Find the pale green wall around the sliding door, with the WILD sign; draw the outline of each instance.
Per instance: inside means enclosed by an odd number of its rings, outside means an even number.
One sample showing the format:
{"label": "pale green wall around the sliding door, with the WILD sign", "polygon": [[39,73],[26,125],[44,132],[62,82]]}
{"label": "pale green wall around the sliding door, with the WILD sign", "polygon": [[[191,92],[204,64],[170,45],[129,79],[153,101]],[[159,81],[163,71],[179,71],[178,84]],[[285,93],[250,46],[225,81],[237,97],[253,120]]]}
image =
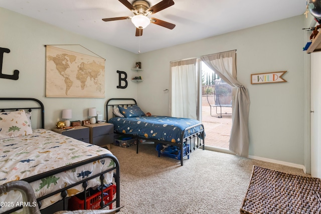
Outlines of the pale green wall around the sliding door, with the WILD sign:
{"label": "pale green wall around the sliding door, with the WILD sign", "polygon": [[[303,27],[300,15],[142,53],[145,81],[138,86],[138,102],[152,114],[168,115],[169,94],[163,90],[169,88],[170,61],[237,49],[237,78],[247,87],[251,101],[249,154],[307,165]],[[252,73],[283,70],[287,70],[287,82],[250,82]]]}

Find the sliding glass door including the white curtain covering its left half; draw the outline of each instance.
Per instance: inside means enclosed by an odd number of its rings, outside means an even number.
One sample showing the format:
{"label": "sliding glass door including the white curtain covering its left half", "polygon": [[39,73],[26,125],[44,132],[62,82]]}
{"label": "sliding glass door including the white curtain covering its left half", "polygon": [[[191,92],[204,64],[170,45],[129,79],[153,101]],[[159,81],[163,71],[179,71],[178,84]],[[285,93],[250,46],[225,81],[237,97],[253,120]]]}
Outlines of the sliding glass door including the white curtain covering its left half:
{"label": "sliding glass door including the white curtain covering its left half", "polygon": [[171,116],[203,122],[206,145],[229,148],[232,87],[200,58],[171,63]]}

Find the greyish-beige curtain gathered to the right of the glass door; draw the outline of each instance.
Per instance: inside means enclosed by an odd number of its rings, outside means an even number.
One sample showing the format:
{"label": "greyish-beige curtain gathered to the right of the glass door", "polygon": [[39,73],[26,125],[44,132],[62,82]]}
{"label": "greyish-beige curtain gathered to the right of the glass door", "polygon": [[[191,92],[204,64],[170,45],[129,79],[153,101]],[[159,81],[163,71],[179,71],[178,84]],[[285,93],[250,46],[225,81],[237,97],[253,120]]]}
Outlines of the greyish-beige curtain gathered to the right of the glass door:
{"label": "greyish-beige curtain gathered to the right of the glass door", "polygon": [[250,98],[247,89],[232,75],[236,73],[236,50],[201,56],[201,59],[224,81],[237,87],[229,149],[237,155],[248,157]]}

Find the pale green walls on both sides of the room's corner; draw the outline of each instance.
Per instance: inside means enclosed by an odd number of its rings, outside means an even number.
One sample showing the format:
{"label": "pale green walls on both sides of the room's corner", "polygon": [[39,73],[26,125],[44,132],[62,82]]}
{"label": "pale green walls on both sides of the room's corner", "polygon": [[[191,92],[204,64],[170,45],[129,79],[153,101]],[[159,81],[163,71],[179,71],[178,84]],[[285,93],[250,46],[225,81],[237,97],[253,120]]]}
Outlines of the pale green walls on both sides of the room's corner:
{"label": "pale green walls on both sides of the room's corner", "polygon": [[[5,53],[3,72],[20,70],[18,80],[0,78],[1,96],[35,97],[44,102],[45,127],[61,119],[61,109],[72,108],[72,119],[86,119],[87,109],[104,111],[111,97],[136,98],[142,110],[168,115],[170,61],[237,49],[238,80],[248,88],[252,156],[302,164],[309,171],[309,142],[306,128],[307,76],[302,51],[306,32],[304,16],[295,16],[223,35],[147,53],[126,50],[71,33],[36,19],[0,8],[0,47]],[[45,97],[45,44],[81,44],[106,59],[105,98]],[[131,71],[141,61],[143,82],[130,81]],[[128,87],[118,89],[116,70],[126,71]],[[252,73],[287,70],[285,83],[250,84]]]}

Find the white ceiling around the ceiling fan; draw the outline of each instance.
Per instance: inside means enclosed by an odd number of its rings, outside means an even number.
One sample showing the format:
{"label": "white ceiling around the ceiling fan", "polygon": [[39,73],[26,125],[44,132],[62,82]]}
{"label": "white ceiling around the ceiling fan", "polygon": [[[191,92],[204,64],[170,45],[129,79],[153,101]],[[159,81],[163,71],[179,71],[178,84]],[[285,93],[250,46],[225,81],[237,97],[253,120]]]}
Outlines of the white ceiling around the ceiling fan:
{"label": "white ceiling around the ceiling fan", "polygon": [[[128,0],[130,3],[133,0]],[[147,0],[150,6],[161,0]],[[174,0],[148,17],[176,24],[149,24],[135,36],[132,16],[118,0],[0,0],[0,6],[131,52],[147,52],[303,14],[306,0]],[[10,21],[8,21],[10,24]],[[255,35],[253,35],[255,36]]]}

